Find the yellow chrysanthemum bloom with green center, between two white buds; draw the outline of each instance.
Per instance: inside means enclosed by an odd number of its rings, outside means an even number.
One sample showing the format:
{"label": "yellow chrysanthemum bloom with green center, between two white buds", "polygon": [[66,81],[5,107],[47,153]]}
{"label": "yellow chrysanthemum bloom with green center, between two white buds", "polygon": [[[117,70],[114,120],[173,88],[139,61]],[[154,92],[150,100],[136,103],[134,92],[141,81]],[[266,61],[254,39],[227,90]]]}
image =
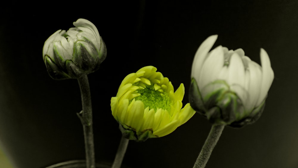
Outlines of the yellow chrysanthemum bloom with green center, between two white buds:
{"label": "yellow chrysanthemum bloom with green center, between two white buds", "polygon": [[112,115],[127,139],[165,136],[195,114],[189,103],[182,108],[184,85],[174,92],[169,79],[156,70],[146,66],[127,75],[111,98]]}

